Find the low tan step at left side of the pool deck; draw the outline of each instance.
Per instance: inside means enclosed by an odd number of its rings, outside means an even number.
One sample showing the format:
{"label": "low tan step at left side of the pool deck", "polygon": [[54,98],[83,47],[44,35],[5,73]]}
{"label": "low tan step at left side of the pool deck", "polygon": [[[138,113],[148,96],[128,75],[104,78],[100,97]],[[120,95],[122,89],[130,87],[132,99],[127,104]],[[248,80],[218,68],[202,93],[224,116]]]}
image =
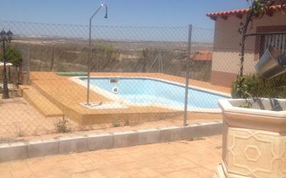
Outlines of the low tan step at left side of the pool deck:
{"label": "low tan step at left side of the pool deck", "polygon": [[19,95],[25,98],[28,103],[46,118],[64,116],[62,110],[51,103],[50,100],[40,94],[40,92],[31,85],[19,86]]}

